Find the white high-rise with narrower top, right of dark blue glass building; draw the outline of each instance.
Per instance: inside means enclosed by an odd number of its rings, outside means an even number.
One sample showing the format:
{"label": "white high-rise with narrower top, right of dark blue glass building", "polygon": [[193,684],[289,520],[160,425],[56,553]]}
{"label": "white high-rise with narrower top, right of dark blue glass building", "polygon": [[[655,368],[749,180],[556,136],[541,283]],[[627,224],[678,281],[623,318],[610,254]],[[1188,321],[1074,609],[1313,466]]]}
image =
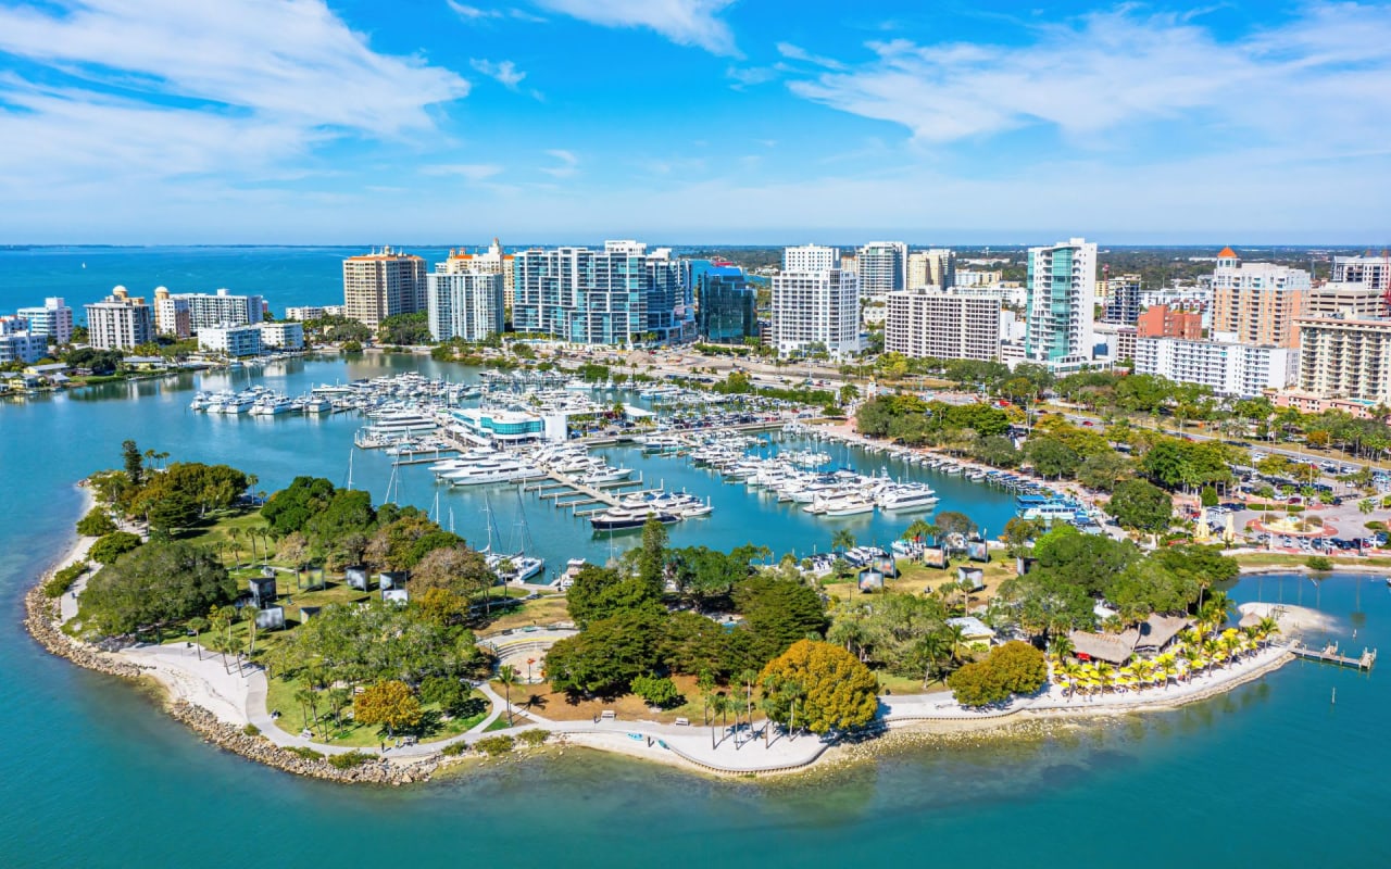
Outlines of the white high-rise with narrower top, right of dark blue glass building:
{"label": "white high-rise with narrower top, right of dark blue glass building", "polygon": [[779,353],[860,350],[860,282],[832,247],[787,247],[772,282],[771,343]]}

